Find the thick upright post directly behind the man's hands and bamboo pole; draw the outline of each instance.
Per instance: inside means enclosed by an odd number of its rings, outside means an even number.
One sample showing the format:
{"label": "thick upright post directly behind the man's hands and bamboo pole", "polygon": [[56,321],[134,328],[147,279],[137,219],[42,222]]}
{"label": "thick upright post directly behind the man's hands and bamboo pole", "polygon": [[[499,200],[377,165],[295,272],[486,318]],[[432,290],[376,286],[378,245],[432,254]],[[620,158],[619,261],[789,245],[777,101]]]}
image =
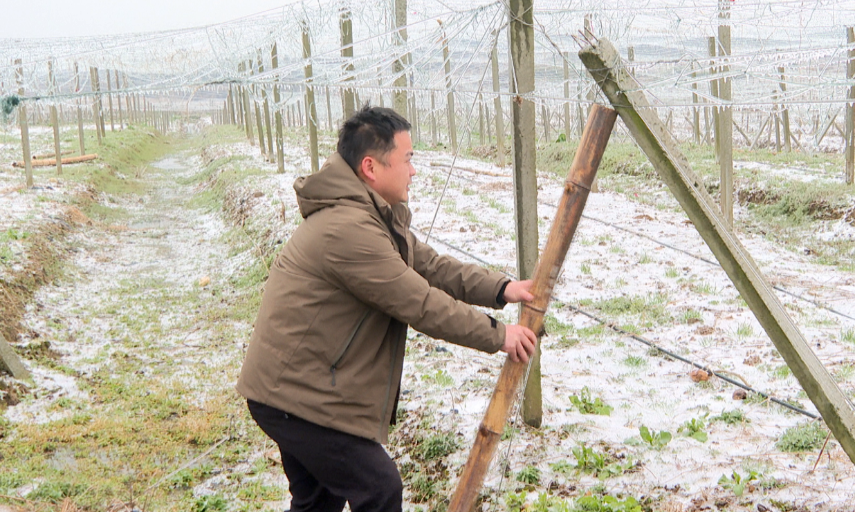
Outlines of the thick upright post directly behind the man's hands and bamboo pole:
{"label": "thick upright post directly behind the man's hands and bamboo pole", "polygon": [[[537,136],[534,132],[534,102],[526,99],[534,91],[534,0],[510,0],[510,102],[513,119],[514,207],[516,212],[516,268],[520,279],[534,275],[538,256],[537,228]],[[540,332],[540,329],[534,331]],[[540,348],[528,365],[522,421],[540,427],[543,407],[540,396]]]}

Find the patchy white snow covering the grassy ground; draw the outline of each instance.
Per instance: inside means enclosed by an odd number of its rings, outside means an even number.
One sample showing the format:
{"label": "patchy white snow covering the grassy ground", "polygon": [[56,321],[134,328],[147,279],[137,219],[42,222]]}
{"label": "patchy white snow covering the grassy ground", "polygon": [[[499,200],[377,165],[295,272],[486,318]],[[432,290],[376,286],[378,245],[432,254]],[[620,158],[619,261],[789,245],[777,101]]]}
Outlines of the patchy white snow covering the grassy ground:
{"label": "patchy white snow covering the grassy ground", "polygon": [[[6,150],[4,146],[4,157]],[[286,239],[298,222],[291,185],[308,167],[304,149],[288,148],[285,174],[277,174],[275,166],[262,161],[257,148],[246,143],[219,145],[209,148],[209,153],[244,155],[248,159],[244,165],[265,170],[232,193],[235,198],[253,198],[246,210],[247,222],[266,226],[271,231],[268,241]],[[516,249],[510,170],[457,159],[458,168],[452,172],[433,223],[450,163],[449,154],[417,152],[418,174],[410,193],[414,230],[422,240],[429,231],[429,242],[439,252],[513,273]],[[242,344],[233,340],[248,340],[251,326],[235,323],[227,326],[229,335],[218,334],[205,323],[203,313],[218,300],[227,299],[215,296],[228,294],[227,287],[216,284],[237,275],[255,255],[251,251],[230,254],[222,237],[230,229],[228,221],[217,212],[189,207],[186,200],[198,189],[174,184],[186,183],[202,166],[200,159],[187,154],[162,160],[150,170],[150,179],[157,183],[150,195],[139,201],[121,200],[121,207],[133,218],[127,226],[74,230],[70,237],[77,250],[67,276],[39,291],[25,319],[32,333],[50,338],[51,347],[62,353],[62,364],[82,376],[89,375],[103,364],[104,354],[131,352],[129,344],[141,343],[143,348],[133,350],[142,363],[141,375],[178,381],[200,393],[199,404],[206,387],[233,385],[233,369],[243,353]],[[62,179],[50,181],[45,172],[40,176],[38,186],[43,189],[3,192],[21,183],[21,174],[0,167],[4,212],[0,231],[21,223],[38,224],[56,215],[63,198],[78,190]],[[562,182],[558,177],[539,176],[541,247]],[[745,215],[737,211],[737,226]],[[855,466],[839,445],[829,443],[818,463],[816,452],[792,454],[775,447],[781,434],[805,422],[806,416],[776,404],[734,400],[735,387],[715,378],[695,383],[688,375],[689,365],[662,357],[628,336],[598,330],[598,323],[570,309],[569,305],[578,306],[608,322],[632,325],[640,335],[671,352],[734,375],[775,398],[797,401],[816,413],[798,382],[780,369],[784,364],[780,355],[728,277],[710,263],[715,258],[686,216],[675,208],[675,201],[663,198],[662,204],[651,206],[605,190],[589,197],[585,216],[557,282],[557,301],[549,311],[557,327],[542,342],[544,428],[540,432],[520,429],[503,441],[498,458],[506,459],[515,473],[534,464],[546,474],[549,463],[574,460],[572,449],[580,443],[607,446],[642,463],[640,471],[605,480],[609,492],[636,497],[666,493],[673,510],[701,507],[716,497],[733,497],[733,492],[717,485],[719,478],[733,471],[746,475],[749,470],[782,484],[746,495],[757,503],[769,506],[767,498],[774,498],[810,510],[855,509]],[[843,233],[847,228],[839,230]],[[805,254],[776,247],[757,236],[739,231],[738,236],[769,282],[855,317],[852,273],[815,265]],[[199,280],[206,276],[212,285],[202,287]],[[853,396],[855,347],[841,338],[847,329],[855,329],[855,322],[791,294],[779,292],[779,297],[840,387]],[[616,298],[646,300],[648,305],[645,311],[617,317],[594,307]],[[158,318],[161,324],[143,329],[143,340],[128,340],[133,329],[127,322],[138,300],[141,307],[152,310],[149,318]],[[516,308],[506,309],[499,317],[513,322]],[[69,336],[73,332],[78,334]],[[32,334],[18,341],[26,343],[29,336]],[[206,350],[201,354],[198,348],[203,344]],[[412,414],[432,415],[437,428],[461,433],[463,445],[468,447],[504,358],[412,332],[409,354],[401,406]],[[181,363],[178,372],[175,362]],[[28,365],[35,374],[38,399],[10,408],[5,413],[10,421],[50,421],[60,414],[50,408],[53,400],[62,396],[86,399],[74,378]],[[451,376],[451,385],[432,378],[440,370]],[[212,371],[221,371],[223,377],[215,384],[200,381]],[[575,410],[569,398],[580,395],[583,388],[613,407],[610,416],[582,415]],[[713,416],[732,410],[740,410],[746,421],[733,425],[711,422]],[[678,435],[677,429],[685,422],[702,418],[706,418],[709,433],[706,443]],[[512,421],[520,425],[519,418]],[[659,450],[645,448],[637,442],[640,426],[668,430],[674,439]],[[406,457],[397,447],[390,450]],[[458,451],[451,463],[462,465],[466,452]],[[815,463],[816,471],[812,470]],[[492,466],[487,486],[506,492],[510,482],[501,478],[498,463],[494,461]],[[598,480],[582,475],[559,483],[565,488],[589,487]],[[753,509],[752,503],[741,509],[739,503],[731,506],[734,510]],[[408,509],[413,508],[408,504]]]}

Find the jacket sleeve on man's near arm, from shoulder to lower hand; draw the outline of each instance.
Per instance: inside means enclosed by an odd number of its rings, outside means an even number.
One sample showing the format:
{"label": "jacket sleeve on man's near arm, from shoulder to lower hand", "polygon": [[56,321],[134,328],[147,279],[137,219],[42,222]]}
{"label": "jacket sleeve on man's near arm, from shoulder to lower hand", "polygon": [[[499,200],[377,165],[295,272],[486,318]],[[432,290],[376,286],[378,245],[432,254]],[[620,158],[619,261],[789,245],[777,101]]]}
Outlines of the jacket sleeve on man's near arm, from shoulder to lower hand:
{"label": "jacket sleeve on man's near arm, from shoulder to lower hand", "polygon": [[504,343],[503,323],[433,288],[406,265],[380,225],[370,221],[332,225],[324,249],[329,282],[365,304],[457,345],[497,352]]}

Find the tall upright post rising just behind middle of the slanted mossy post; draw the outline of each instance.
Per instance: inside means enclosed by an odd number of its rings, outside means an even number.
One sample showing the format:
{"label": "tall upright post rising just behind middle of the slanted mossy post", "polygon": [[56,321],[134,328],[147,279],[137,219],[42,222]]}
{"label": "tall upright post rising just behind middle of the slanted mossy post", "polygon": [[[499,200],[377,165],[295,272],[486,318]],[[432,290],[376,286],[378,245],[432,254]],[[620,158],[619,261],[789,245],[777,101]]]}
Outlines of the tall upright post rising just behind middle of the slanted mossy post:
{"label": "tall upright post rising just behind middle of the slanted mossy post", "polygon": [[718,165],[721,171],[721,186],[719,189],[719,203],[722,213],[728,224],[734,225],[734,108],[730,106],[731,84],[728,77],[730,65],[730,0],[719,0],[718,2],[718,56],[722,57],[722,78],[719,79],[719,95],[722,98],[722,109],[718,117],[718,134],[722,137],[718,144]]}

